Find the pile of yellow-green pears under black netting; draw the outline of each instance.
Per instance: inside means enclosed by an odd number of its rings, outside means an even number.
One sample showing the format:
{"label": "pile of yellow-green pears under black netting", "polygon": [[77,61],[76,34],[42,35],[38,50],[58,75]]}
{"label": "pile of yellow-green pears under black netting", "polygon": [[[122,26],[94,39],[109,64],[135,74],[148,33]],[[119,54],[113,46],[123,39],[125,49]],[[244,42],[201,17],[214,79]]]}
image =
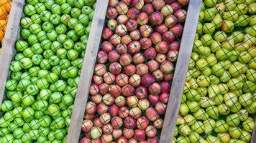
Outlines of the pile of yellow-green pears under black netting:
{"label": "pile of yellow-green pears under black netting", "polygon": [[204,0],[174,142],[250,142],[256,114],[256,3]]}

